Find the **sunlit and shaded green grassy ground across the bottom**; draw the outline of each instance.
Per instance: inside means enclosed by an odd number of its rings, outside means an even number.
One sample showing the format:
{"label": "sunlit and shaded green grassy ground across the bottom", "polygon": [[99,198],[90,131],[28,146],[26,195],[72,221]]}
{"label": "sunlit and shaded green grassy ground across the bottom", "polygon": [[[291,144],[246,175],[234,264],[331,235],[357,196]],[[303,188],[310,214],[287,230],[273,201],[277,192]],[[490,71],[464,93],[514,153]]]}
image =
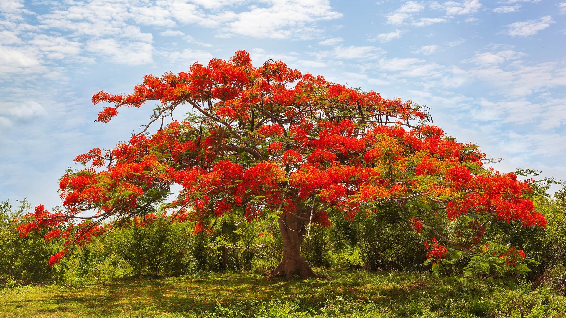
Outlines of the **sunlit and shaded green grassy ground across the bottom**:
{"label": "sunlit and shaded green grassy ground across the bottom", "polygon": [[327,271],[332,278],[267,280],[202,273],[80,287],[0,290],[0,317],[566,317],[566,297],[411,272]]}

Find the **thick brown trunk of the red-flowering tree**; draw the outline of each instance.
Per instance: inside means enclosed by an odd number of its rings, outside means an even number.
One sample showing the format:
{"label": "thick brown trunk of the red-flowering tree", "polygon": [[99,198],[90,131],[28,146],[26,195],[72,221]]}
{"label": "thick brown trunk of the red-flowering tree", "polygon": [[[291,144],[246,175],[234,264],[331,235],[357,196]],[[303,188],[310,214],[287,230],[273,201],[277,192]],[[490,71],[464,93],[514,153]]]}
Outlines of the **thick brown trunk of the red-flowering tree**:
{"label": "thick brown trunk of the red-flowering tree", "polygon": [[[297,207],[297,215],[302,210]],[[300,214],[299,214],[300,213]],[[310,211],[308,211],[310,215]],[[281,276],[290,278],[297,275],[301,277],[322,277],[312,271],[301,256],[301,243],[305,238],[308,221],[300,220],[290,214],[283,214],[279,220],[279,229],[283,238],[283,259],[275,269],[269,272],[268,277]]]}

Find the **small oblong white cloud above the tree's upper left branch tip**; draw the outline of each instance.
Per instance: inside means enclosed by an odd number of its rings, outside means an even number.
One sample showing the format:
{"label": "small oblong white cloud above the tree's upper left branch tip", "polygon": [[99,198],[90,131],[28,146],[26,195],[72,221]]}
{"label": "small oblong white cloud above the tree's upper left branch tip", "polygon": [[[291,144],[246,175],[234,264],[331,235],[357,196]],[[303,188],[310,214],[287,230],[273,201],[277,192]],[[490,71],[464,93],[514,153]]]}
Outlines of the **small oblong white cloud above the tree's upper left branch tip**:
{"label": "small oblong white cloud above the tree's upper left branch tip", "polygon": [[85,44],[85,50],[123,65],[143,65],[153,62],[153,46],[144,42],[121,44],[113,38],[91,40]]}

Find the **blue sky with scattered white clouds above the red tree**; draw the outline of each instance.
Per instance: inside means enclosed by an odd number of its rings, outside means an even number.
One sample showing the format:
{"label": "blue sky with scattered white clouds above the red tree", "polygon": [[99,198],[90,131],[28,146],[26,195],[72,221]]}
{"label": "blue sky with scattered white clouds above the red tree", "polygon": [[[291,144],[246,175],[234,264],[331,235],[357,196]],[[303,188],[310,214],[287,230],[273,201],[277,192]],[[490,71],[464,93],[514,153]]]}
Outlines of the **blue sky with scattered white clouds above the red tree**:
{"label": "blue sky with scattered white clouds above the red tree", "polygon": [[2,0],[0,200],[55,207],[76,155],[151,113],[94,122],[93,93],[241,49],[427,105],[449,135],[503,158],[496,169],[566,179],[566,2]]}

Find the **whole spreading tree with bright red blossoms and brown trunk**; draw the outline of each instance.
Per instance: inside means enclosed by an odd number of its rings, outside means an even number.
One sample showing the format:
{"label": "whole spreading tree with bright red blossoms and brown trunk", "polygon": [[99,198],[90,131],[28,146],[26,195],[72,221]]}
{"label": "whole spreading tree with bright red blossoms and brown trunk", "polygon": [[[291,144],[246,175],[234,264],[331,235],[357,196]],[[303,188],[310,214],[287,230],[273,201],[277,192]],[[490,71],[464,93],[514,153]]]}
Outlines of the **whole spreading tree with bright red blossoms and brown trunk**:
{"label": "whole spreading tree with bright red blossoms and brown trunk", "polygon": [[[61,178],[65,209],[36,208],[20,227],[24,234],[58,225],[47,237],[88,242],[101,222],[120,226],[144,216],[180,184],[168,204],[174,220],[193,221],[201,231],[207,220],[225,214],[249,221],[276,215],[284,250],[271,276],[308,277],[317,275],[301,257],[301,242],[311,225],[331,225],[331,210],[353,218],[394,205],[415,231],[430,234],[425,245],[435,261],[446,246],[478,250],[494,222],[545,225],[526,197],[528,182],[484,169],[484,154],[475,145],[457,143],[426,124],[426,108],[302,74],[282,62],[254,67],[245,51],[230,61],[195,63],[187,72],[147,75],[133,93],[102,91],[92,101],[113,104],[98,115],[102,123],[124,106],[158,104],[145,129],[127,143],[78,156],[76,162],[91,166]],[[187,111],[184,121],[173,120]],[[145,134],[152,123],[160,126]],[[87,210],[95,215],[80,217]],[[72,218],[85,221],[74,226]],[[435,218],[453,222],[462,234],[444,237]]]}

